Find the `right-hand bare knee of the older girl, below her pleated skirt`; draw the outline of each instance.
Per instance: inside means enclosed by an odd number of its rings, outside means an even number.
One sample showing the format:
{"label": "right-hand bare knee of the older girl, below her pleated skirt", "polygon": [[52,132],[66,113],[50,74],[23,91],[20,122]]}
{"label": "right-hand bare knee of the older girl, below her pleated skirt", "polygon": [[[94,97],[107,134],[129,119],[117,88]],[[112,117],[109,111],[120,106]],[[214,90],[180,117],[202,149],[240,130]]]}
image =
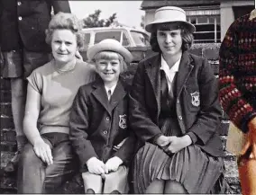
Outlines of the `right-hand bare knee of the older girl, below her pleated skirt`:
{"label": "right-hand bare knee of the older girl, below her pleated skirt", "polygon": [[167,181],[164,186],[165,194],[187,194],[186,189],[180,182]]}

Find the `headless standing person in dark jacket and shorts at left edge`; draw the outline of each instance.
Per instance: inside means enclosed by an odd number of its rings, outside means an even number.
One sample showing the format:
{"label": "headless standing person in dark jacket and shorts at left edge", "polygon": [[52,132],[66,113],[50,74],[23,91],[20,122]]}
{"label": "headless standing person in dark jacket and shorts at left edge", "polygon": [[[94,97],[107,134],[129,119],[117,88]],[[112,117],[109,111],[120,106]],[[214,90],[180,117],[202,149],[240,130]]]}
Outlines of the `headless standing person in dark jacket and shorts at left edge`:
{"label": "headless standing person in dark jacket and shorts at left edge", "polygon": [[2,75],[11,80],[12,111],[16,132],[17,152],[5,166],[14,172],[23,146],[26,101],[25,78],[32,71],[50,61],[50,47],[45,42],[45,30],[54,13],[70,13],[69,1],[0,0],[0,46],[4,55]]}

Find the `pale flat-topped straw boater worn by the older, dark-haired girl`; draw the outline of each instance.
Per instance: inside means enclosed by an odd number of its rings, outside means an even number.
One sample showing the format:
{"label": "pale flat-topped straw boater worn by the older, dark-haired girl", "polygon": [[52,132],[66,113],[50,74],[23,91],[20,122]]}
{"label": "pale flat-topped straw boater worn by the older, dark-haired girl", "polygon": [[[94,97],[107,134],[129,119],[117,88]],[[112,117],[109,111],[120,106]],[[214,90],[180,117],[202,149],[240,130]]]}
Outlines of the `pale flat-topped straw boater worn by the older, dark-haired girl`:
{"label": "pale flat-topped straw boater worn by the older, dark-haired girl", "polygon": [[154,21],[146,25],[145,29],[146,31],[153,32],[155,31],[155,24],[164,22],[181,22],[191,33],[196,31],[196,27],[192,23],[187,22],[185,11],[175,6],[165,6],[157,9],[155,12]]}

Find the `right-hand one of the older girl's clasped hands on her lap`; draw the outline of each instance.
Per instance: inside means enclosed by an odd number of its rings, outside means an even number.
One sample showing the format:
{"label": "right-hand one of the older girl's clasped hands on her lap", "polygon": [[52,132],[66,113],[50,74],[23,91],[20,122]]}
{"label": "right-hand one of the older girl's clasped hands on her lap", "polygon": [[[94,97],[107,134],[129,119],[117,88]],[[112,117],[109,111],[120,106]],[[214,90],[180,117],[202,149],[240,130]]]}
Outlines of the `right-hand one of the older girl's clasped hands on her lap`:
{"label": "right-hand one of the older girl's clasped hands on her lap", "polygon": [[191,144],[192,144],[192,140],[187,135],[183,137],[171,136],[169,137],[169,146],[164,147],[164,150],[167,153],[177,153],[179,150]]}

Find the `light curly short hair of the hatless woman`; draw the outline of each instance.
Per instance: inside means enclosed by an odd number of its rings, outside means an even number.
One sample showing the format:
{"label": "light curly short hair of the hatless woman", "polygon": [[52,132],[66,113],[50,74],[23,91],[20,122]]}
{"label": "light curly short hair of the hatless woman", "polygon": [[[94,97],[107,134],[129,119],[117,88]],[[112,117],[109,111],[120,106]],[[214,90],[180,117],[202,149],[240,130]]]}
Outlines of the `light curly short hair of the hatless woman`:
{"label": "light curly short hair of the hatless woman", "polygon": [[78,21],[76,15],[72,13],[57,13],[50,20],[48,29],[45,31],[45,41],[50,44],[52,34],[55,30],[70,30],[77,36],[78,48],[83,48],[84,35],[82,33],[82,24]]}

